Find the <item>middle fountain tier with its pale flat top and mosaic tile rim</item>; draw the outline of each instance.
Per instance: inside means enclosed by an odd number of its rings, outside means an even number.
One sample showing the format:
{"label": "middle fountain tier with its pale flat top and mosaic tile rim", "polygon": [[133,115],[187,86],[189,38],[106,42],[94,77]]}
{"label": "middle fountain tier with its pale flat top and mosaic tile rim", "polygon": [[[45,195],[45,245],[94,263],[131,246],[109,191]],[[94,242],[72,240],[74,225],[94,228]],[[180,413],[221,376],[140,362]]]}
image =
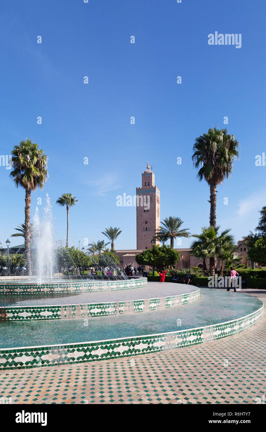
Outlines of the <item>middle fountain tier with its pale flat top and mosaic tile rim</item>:
{"label": "middle fountain tier with its pale flat top and mosaic tile rim", "polygon": [[199,299],[200,290],[176,283],[150,283],[139,289],[72,295],[2,296],[0,321],[63,320],[134,314],[182,306]]}

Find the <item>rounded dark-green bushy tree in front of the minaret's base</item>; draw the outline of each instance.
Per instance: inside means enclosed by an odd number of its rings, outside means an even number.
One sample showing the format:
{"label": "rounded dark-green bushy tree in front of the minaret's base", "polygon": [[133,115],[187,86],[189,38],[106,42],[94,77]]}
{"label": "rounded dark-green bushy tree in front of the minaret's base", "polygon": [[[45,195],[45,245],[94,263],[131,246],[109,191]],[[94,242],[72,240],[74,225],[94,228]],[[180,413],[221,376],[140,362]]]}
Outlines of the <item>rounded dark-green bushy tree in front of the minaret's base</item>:
{"label": "rounded dark-green bushy tree in front of the minaret's base", "polygon": [[135,259],[138,264],[149,265],[161,273],[180,261],[180,253],[172,249],[171,246],[155,245],[152,249],[145,249],[141,254],[136,254]]}

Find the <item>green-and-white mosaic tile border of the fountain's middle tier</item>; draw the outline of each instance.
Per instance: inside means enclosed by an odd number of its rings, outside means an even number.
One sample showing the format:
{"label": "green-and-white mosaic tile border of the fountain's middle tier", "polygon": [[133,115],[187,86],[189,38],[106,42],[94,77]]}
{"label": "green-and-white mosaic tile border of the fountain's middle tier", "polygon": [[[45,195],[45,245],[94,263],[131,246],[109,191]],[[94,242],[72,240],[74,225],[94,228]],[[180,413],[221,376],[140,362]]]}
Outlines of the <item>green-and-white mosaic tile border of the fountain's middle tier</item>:
{"label": "green-and-white mosaic tile border of the fountain's middle tier", "polygon": [[[185,296],[185,301],[183,300]],[[198,300],[200,289],[187,294],[157,299],[127,300],[123,302],[84,303],[76,305],[10,306],[0,308],[1,321],[35,321],[102,317],[133,314],[172,308]]]}

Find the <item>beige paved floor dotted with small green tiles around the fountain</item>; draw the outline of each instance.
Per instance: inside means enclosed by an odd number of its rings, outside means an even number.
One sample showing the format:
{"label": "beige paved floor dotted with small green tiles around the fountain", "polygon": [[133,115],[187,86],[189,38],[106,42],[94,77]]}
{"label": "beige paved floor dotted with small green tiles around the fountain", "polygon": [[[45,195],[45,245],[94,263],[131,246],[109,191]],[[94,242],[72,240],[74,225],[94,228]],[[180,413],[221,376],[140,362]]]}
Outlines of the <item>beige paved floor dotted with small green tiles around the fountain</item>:
{"label": "beige paved floor dotted with small green tiles around the fountain", "polygon": [[[245,293],[266,301],[266,291]],[[258,403],[265,394],[265,316],[241,334],[203,345],[0,372],[0,397],[12,397],[12,403],[248,404]]]}

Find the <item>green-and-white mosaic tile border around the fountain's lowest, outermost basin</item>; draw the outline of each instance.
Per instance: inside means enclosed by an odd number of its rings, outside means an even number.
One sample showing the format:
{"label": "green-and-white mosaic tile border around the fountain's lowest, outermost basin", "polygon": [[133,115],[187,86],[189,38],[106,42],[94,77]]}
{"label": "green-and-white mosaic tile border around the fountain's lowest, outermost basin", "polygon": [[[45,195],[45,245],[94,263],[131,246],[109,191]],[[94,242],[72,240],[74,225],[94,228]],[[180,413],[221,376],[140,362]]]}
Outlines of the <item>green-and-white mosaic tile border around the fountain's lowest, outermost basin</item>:
{"label": "green-and-white mosaic tile border around the fountain's lowest, outermost basin", "polygon": [[[261,302],[262,303],[262,302]],[[0,350],[0,370],[93,362],[156,353],[228,337],[256,324],[262,306],[244,317],[221,324],[117,340]]]}

